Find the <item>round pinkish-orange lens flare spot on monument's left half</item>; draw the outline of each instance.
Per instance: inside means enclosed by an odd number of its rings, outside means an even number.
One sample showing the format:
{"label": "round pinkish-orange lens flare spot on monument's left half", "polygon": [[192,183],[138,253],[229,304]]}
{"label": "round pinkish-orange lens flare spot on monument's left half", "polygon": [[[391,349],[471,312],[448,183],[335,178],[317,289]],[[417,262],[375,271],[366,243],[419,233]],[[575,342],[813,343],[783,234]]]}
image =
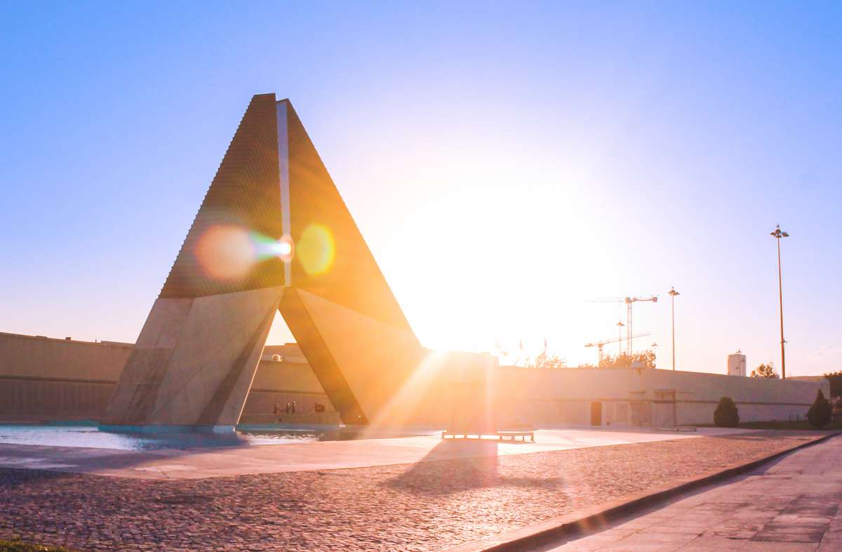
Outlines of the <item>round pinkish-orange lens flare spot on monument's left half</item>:
{"label": "round pinkish-orange lens flare spot on monument's left half", "polygon": [[211,226],[199,238],[195,249],[202,271],[217,280],[234,280],[248,274],[257,252],[245,229]]}

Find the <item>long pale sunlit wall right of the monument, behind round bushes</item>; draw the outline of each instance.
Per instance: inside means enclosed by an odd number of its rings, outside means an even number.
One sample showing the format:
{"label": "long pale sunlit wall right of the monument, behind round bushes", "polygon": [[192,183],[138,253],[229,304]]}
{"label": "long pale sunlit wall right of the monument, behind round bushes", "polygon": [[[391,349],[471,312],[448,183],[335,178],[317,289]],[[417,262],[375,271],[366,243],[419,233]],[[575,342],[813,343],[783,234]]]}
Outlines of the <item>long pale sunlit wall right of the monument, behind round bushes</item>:
{"label": "long pale sunlit wall right of the monument, behind round bushes", "polygon": [[737,403],[741,421],[803,418],[818,389],[829,397],[825,379],[781,381],[658,369],[501,367],[495,379],[494,404],[502,423],[541,427],[588,426],[592,408],[600,408],[603,426],[653,426],[658,391],[674,392],[679,425],[711,424],[723,396]]}

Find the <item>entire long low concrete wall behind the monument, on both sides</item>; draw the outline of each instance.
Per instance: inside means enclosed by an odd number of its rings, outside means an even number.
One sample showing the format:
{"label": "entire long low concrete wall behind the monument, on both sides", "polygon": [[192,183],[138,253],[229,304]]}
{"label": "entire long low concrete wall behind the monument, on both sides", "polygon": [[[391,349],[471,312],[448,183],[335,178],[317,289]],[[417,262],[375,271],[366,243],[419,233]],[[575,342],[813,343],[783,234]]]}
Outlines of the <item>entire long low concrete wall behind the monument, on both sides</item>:
{"label": "entire long low concrete wall behind the monument, on both sides", "polygon": [[[0,333],[0,421],[98,421],[133,346]],[[466,356],[460,362],[460,356]],[[723,396],[742,421],[803,418],[824,378],[744,378],[652,368],[498,367],[493,357],[447,353],[429,378],[400,400],[422,405],[410,425],[461,419],[486,426],[710,424]],[[462,366],[459,368],[459,366]],[[484,366],[484,367],[478,367]],[[296,413],[286,412],[295,403]],[[323,411],[319,411],[322,410]],[[266,346],[241,424],[335,424],[338,413],[296,344]]]}

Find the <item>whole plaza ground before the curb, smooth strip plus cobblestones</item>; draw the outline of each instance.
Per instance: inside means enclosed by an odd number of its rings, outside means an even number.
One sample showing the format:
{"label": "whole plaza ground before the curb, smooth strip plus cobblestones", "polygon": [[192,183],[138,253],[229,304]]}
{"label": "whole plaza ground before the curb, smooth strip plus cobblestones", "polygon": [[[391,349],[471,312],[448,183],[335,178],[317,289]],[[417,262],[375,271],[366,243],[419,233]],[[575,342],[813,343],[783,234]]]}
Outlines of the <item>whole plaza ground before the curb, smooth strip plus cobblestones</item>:
{"label": "whole plaza ground before the curb, smooth strip plus cobblestones", "polygon": [[[541,431],[534,446],[437,437],[144,453],[3,445],[18,468],[110,476],[0,468],[0,539],[92,551],[441,550],[811,437],[569,430]],[[137,476],[139,467],[152,475]]]}

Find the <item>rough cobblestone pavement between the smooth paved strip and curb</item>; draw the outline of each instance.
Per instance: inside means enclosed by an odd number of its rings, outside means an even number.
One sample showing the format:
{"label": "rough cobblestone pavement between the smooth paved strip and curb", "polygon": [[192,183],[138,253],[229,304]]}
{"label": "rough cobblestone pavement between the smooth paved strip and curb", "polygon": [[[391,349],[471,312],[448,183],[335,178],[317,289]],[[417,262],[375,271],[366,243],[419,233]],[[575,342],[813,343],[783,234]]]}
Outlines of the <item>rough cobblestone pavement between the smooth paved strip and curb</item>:
{"label": "rough cobblestone pavement between the smooth paved strip and curb", "polygon": [[805,437],[752,432],[204,480],[0,469],[0,539],[91,551],[437,550],[747,462]]}

